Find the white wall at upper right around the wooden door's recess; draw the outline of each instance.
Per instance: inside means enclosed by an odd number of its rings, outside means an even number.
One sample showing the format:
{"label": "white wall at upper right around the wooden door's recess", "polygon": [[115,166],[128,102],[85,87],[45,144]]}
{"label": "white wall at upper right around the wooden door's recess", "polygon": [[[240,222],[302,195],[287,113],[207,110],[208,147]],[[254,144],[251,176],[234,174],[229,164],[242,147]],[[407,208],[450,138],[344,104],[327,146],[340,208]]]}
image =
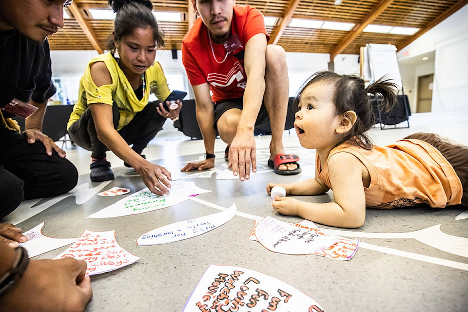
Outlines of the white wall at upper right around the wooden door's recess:
{"label": "white wall at upper right around the wooden door's recess", "polygon": [[432,64],[427,64],[402,77],[406,79],[405,89],[413,90],[409,99],[411,106],[416,104],[417,77],[433,73],[432,111],[468,111],[467,34],[468,5],[465,5],[398,52],[398,59],[405,60],[435,51],[433,69],[430,68]]}

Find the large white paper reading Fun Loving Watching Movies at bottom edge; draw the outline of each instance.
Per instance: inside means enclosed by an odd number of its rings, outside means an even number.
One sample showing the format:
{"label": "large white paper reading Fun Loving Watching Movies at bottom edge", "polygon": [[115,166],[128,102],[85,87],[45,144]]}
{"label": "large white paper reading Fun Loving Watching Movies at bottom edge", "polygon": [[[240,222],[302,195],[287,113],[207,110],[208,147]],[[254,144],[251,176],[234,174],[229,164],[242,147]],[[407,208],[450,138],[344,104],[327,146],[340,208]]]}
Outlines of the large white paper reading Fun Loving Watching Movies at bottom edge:
{"label": "large white paper reading Fun Loving Watching Movies at bottom edge", "polygon": [[217,265],[208,267],[183,310],[195,311],[324,312],[311,297],[277,278]]}

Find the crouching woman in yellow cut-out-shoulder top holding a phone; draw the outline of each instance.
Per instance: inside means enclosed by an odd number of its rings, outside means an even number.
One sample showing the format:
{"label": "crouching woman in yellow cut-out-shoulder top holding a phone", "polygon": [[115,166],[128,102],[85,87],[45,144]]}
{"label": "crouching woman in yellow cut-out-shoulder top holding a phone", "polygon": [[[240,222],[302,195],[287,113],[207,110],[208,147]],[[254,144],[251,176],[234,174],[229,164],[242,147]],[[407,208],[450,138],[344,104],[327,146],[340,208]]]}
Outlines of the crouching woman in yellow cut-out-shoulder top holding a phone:
{"label": "crouching woman in yellow cut-out-shoulder top holding a phone", "polygon": [[[92,151],[92,181],[114,179],[106,160],[110,150],[141,175],[151,192],[169,194],[171,174],[145,159],[143,149],[166,118],[178,117],[182,104],[166,111],[159,101],[170,94],[156,47],[164,44],[149,0],[110,0],[117,12],[110,52],[92,59],[79,84],[79,98],[68,122],[71,139]],[[132,145],[133,144],[133,145]],[[130,147],[129,145],[132,145]]]}

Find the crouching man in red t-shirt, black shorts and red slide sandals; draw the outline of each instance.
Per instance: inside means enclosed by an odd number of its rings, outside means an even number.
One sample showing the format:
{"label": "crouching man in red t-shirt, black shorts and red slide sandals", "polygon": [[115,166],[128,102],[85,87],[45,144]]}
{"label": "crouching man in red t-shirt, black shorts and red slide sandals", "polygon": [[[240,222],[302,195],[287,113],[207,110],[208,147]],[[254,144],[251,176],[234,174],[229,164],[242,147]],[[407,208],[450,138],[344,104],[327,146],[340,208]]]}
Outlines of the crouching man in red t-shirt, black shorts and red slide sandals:
{"label": "crouching man in red t-shirt, black shorts and red slide sandals", "polygon": [[192,1],[201,19],[182,41],[182,61],[195,94],[206,159],[181,171],[215,166],[217,130],[228,144],[234,175],[249,179],[251,168],[256,171],[254,127],[269,123],[269,166],[282,175],[299,173],[299,157],[285,155],[282,141],[289,99],[286,53],[267,45],[262,13],[234,5],[235,0]]}

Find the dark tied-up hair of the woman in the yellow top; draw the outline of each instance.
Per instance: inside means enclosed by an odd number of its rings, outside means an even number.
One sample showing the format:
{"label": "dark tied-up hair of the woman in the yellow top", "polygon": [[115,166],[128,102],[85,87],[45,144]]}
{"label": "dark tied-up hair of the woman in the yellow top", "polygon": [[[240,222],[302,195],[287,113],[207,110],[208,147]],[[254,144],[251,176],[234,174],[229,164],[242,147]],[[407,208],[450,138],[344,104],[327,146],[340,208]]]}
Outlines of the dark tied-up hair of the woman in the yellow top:
{"label": "dark tied-up hair of the woman in the yellow top", "polygon": [[114,22],[114,34],[111,34],[107,43],[107,49],[115,52],[117,41],[131,34],[137,28],[151,27],[156,46],[164,46],[163,33],[157,26],[156,18],[152,13],[153,4],[150,0],[109,0],[109,4],[117,13]]}

